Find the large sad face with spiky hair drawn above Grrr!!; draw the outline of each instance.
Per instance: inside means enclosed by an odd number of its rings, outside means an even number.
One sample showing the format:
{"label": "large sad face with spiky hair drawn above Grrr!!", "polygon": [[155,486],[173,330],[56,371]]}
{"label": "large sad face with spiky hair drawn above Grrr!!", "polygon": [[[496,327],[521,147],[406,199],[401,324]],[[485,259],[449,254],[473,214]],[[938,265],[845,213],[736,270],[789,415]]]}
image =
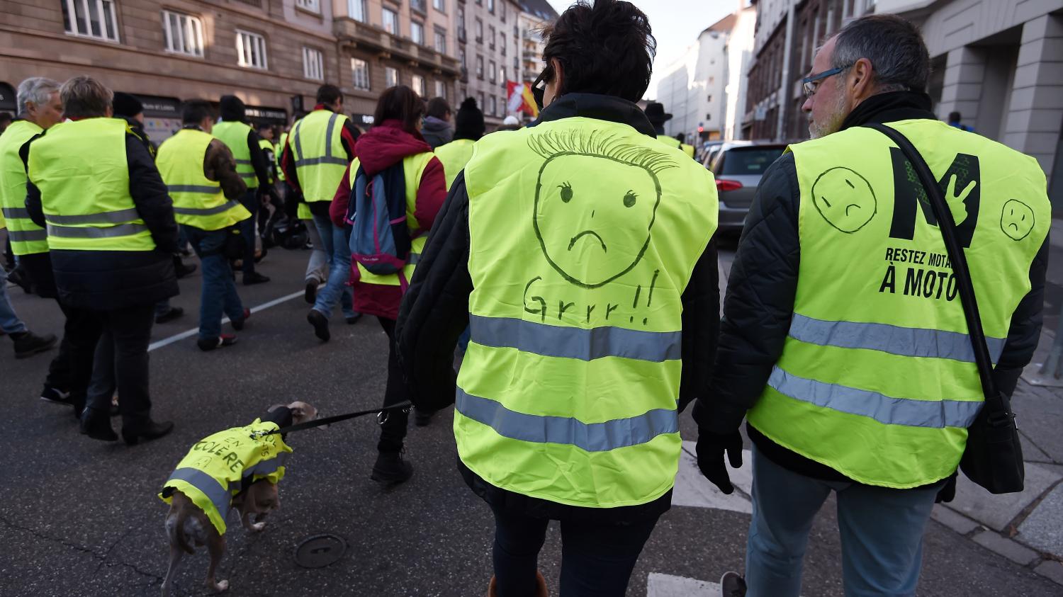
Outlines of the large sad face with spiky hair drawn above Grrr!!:
{"label": "large sad face with spiky hair drawn above Grrr!!", "polygon": [[546,158],[534,225],[550,265],[584,288],[629,272],[649,245],[661,197],[657,174],[675,163],[600,132],[546,132],[528,146]]}

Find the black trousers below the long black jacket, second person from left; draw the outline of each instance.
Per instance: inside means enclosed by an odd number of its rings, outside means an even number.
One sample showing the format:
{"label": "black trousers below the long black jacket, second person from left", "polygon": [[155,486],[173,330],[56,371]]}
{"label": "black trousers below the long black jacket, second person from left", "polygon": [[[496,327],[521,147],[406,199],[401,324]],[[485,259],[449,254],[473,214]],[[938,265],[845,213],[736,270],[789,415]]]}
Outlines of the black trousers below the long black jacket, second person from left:
{"label": "black trousers below the long black jacket, second person from left", "polygon": [[150,304],[111,311],[70,309],[71,393],[77,389],[87,396],[88,408],[106,411],[117,388],[123,424],[142,422],[151,413],[148,344],[154,309]]}

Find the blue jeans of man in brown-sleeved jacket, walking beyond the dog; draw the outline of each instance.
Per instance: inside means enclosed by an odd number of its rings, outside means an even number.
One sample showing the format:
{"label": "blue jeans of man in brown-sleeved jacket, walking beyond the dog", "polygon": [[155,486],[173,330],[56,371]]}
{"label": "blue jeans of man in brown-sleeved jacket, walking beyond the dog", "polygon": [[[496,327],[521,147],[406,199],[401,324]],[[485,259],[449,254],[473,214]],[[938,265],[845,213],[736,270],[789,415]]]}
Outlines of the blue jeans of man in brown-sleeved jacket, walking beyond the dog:
{"label": "blue jeans of man in brown-sleeved jacket, walking beyond the dog", "polygon": [[200,334],[203,340],[212,340],[221,335],[221,315],[230,320],[243,319],[243,303],[236,293],[233,270],[224,255],[225,238],[229,233],[204,231],[182,225],[188,235],[192,251],[200,258],[203,270],[203,290],[200,292]]}

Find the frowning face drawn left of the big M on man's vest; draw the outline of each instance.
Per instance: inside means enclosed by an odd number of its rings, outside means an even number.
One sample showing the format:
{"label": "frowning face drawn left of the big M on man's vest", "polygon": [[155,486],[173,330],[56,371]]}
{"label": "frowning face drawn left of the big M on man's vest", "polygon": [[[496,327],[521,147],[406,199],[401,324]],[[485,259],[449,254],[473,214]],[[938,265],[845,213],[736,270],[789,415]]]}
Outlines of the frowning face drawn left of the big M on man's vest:
{"label": "frowning face drawn left of the big M on man's vest", "polygon": [[848,168],[831,168],[812,184],[812,204],[828,224],[853,234],[864,227],[878,210],[867,181]]}

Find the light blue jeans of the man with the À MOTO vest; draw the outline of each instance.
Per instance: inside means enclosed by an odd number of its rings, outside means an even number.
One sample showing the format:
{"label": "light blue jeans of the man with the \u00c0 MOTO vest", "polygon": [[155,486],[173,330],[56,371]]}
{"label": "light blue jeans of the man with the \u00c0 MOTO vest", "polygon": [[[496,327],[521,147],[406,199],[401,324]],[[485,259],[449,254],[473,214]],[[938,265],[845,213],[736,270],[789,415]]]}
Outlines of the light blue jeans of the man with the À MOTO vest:
{"label": "light blue jeans of the man with the \u00c0 MOTO vest", "polygon": [[746,595],[797,597],[812,519],[831,491],[838,493],[845,595],[915,595],[923,531],[941,484],[894,490],[823,481],[779,466],[754,446]]}

